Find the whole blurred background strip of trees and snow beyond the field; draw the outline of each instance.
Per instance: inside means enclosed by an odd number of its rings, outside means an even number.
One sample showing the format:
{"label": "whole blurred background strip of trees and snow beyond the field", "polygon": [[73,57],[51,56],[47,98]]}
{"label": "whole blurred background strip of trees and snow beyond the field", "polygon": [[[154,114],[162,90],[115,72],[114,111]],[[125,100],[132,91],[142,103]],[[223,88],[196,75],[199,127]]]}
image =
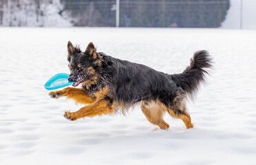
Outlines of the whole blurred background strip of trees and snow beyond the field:
{"label": "whole blurred background strip of trees and snow beyond the field", "polygon": [[0,0],[1,26],[256,28],[255,0]]}

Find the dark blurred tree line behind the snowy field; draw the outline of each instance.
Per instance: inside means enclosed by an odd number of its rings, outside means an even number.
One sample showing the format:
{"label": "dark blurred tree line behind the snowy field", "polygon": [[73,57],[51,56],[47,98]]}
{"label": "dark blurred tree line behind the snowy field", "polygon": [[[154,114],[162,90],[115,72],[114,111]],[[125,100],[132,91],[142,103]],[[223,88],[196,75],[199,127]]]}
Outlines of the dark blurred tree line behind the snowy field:
{"label": "dark blurred tree line behind the snowy field", "polygon": [[[116,25],[116,1],[61,0],[75,26]],[[229,0],[120,0],[121,27],[217,28]]]}

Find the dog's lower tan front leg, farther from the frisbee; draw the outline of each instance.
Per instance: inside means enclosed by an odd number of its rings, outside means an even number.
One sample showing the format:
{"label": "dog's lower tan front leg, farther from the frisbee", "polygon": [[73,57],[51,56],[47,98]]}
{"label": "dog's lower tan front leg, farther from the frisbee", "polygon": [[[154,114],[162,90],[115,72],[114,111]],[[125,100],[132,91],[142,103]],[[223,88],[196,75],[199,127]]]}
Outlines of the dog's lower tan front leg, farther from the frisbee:
{"label": "dog's lower tan front leg, farther from the frisbee", "polygon": [[65,111],[64,117],[69,120],[77,120],[78,118],[94,117],[95,115],[106,115],[114,113],[108,100],[99,100],[93,104],[89,104],[78,111],[69,112]]}

